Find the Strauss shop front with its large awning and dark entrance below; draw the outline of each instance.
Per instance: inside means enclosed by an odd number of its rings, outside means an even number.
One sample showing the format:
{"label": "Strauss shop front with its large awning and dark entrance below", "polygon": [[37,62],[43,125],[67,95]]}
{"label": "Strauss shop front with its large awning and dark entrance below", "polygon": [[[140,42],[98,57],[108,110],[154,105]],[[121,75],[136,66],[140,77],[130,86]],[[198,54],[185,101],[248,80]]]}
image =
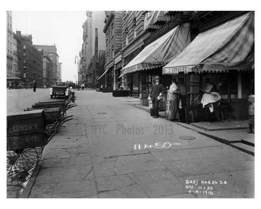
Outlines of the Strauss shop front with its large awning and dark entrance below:
{"label": "Strauss shop front with its large awning and dark entrance below", "polygon": [[205,88],[205,77],[210,78],[228,117],[245,119],[247,97],[254,94],[254,13],[200,33],[163,67],[163,74],[185,77],[189,107]]}

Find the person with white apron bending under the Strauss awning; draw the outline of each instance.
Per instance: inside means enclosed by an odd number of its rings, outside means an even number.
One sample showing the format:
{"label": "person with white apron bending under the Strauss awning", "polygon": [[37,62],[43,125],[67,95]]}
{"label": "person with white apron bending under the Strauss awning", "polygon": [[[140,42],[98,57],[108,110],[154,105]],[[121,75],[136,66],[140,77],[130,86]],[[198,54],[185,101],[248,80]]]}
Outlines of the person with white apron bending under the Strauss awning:
{"label": "person with white apron bending under the Strauss awning", "polygon": [[[219,121],[219,112],[218,106],[221,99],[220,94],[218,93],[217,87],[215,84],[210,82],[208,77],[205,78],[206,90],[203,91],[204,94],[201,99],[203,108],[210,108],[210,112],[214,114],[214,120]],[[202,91],[202,90],[201,90]]]}

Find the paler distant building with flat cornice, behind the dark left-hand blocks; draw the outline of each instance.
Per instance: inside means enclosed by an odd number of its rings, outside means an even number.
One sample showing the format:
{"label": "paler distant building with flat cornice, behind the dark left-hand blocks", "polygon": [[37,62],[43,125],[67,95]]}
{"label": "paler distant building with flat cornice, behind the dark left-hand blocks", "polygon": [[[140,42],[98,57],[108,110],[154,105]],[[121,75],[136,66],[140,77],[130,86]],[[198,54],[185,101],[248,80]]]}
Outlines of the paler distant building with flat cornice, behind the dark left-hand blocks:
{"label": "paler distant building with flat cornice, behind the dark left-hand blocks", "polygon": [[49,56],[50,60],[53,62],[53,81],[52,84],[55,84],[57,79],[57,69],[58,69],[58,63],[59,63],[59,55],[57,54],[57,48],[56,45],[34,45],[37,49],[43,49],[44,53],[47,53],[47,56]]}

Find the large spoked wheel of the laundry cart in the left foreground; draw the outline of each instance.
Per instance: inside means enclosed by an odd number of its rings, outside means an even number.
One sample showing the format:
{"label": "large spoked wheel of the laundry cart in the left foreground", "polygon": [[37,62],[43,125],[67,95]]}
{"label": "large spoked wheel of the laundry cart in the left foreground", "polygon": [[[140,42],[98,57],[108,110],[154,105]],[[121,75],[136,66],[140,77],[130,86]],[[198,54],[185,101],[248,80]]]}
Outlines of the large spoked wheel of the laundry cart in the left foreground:
{"label": "large spoked wheel of the laundry cart in the left foreground", "polygon": [[[11,141],[11,142],[10,142]],[[22,145],[22,146],[21,146]],[[23,148],[24,147],[24,148]],[[7,185],[27,181],[37,166],[42,150],[18,137],[7,139]]]}

